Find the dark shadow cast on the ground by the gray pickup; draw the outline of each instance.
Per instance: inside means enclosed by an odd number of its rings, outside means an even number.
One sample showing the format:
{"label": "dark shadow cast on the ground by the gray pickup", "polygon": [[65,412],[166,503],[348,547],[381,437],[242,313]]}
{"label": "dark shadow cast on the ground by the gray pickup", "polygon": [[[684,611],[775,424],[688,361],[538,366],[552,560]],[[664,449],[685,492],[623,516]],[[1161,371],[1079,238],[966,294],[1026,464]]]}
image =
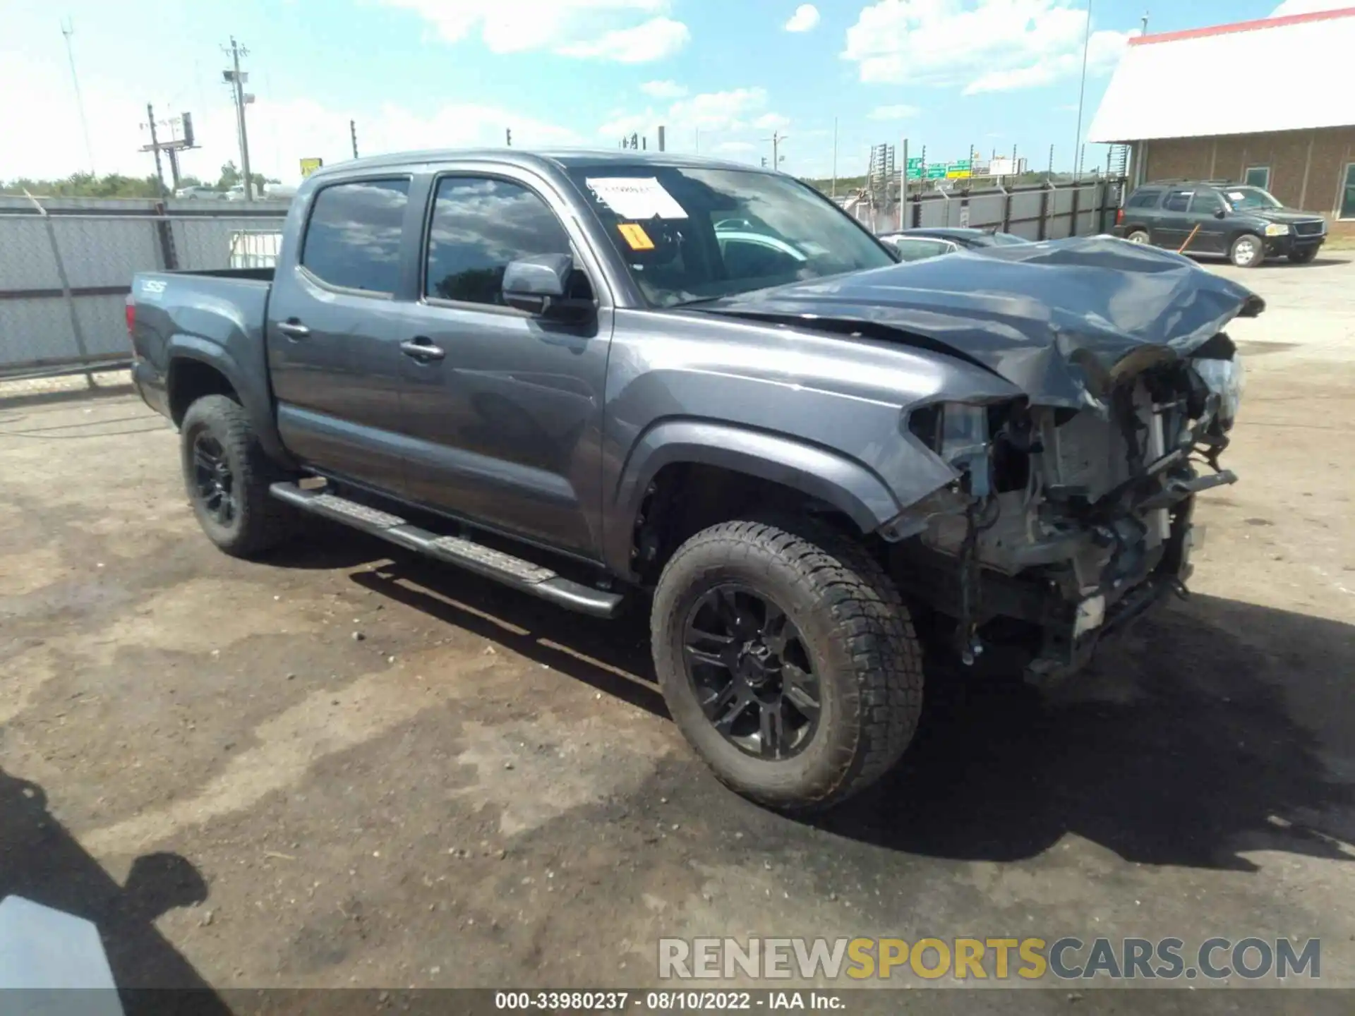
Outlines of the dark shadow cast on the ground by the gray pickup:
{"label": "dark shadow cast on the ground by the gray pickup", "polygon": [[[404,557],[352,578],[664,715],[642,611],[599,622]],[[1341,708],[1352,671],[1348,625],[1195,596],[1051,694],[932,680],[900,767],[814,825],[965,860],[1037,856],[1069,832],[1148,864],[1247,871],[1241,851],[1257,848],[1355,858],[1355,795],[1321,755],[1333,745],[1294,719]]]}

